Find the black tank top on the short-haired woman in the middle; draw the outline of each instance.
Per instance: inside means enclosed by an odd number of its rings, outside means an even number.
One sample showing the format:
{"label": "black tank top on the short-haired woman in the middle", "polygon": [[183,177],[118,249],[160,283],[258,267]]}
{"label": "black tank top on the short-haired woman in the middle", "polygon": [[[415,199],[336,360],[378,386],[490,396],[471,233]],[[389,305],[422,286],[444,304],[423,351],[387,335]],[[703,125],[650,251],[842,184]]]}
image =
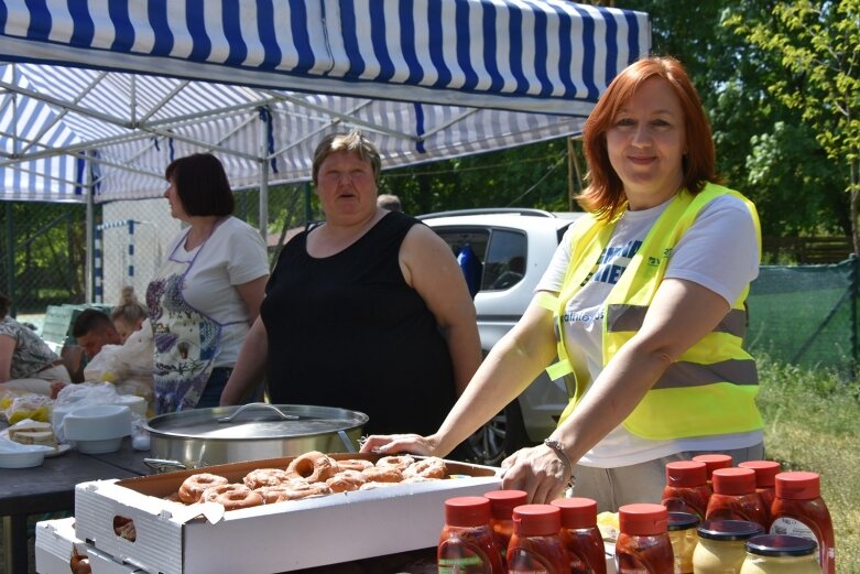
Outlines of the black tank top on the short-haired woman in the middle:
{"label": "black tank top on the short-haired woman in the middle", "polygon": [[273,403],[361,411],[368,434],[438,429],[455,402],[450,354],[398,262],[416,224],[392,212],[322,259],[307,254],[308,231],[284,246],[260,312]]}

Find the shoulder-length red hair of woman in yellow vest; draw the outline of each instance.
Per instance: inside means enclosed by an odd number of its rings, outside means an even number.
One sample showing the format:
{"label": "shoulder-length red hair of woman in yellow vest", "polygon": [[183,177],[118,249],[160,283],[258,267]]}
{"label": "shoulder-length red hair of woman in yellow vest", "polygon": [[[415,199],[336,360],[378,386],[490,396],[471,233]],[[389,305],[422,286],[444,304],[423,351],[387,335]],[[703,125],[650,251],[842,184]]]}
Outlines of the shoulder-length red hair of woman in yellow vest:
{"label": "shoulder-length red hair of woman in yellow vest", "polygon": [[583,129],[583,149],[588,162],[588,187],[577,202],[600,218],[612,219],[627,203],[624,186],[609,162],[606,133],[612,127],[618,110],[646,79],[654,77],[668,83],[684,111],[687,153],[682,162],[683,186],[695,195],[703,189],[705,183],[717,183],[710,122],[687,72],[673,57],[646,57],[631,64],[616,76],[588,116]]}

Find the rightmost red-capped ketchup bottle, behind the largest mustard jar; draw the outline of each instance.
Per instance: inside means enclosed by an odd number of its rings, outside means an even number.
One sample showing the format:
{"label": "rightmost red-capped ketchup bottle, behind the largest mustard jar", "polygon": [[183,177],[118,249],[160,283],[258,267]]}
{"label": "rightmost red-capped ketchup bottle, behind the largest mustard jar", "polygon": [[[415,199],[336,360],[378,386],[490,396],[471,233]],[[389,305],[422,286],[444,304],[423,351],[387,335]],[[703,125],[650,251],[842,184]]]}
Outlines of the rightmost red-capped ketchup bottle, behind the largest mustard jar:
{"label": "rightmost red-capped ketchup bottle, behind the largest mustard jar", "polygon": [[830,511],[821,499],[817,473],[776,475],[776,497],[771,507],[771,534],[790,534],[815,540],[824,574],[836,574],[836,544]]}

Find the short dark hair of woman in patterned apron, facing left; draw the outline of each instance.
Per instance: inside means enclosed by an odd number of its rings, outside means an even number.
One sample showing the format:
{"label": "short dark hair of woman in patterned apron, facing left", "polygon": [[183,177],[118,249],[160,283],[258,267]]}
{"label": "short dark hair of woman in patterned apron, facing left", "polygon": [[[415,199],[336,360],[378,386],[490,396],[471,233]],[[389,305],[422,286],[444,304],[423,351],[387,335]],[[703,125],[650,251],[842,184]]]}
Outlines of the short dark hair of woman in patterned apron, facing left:
{"label": "short dark hair of woman in patterned apron, facing left", "polygon": [[233,193],[224,164],[211,153],[193,153],[173,160],[164,178],[176,186],[176,194],[188,215],[231,215]]}

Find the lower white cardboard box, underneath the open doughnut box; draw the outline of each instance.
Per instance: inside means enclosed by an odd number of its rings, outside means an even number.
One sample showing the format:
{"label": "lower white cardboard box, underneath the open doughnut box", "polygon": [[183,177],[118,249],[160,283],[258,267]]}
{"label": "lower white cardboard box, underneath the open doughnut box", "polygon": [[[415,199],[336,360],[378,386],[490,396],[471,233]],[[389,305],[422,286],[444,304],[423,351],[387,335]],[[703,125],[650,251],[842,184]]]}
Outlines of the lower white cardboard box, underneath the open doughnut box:
{"label": "lower white cardboard box, underneath the open doughnut box", "polygon": [[[74,549],[74,550],[73,550]],[[75,534],[75,519],[43,520],[36,523],[36,572],[39,574],[68,574],[74,553],[89,561],[92,574],[134,574],[143,571],[115,562]]]}

